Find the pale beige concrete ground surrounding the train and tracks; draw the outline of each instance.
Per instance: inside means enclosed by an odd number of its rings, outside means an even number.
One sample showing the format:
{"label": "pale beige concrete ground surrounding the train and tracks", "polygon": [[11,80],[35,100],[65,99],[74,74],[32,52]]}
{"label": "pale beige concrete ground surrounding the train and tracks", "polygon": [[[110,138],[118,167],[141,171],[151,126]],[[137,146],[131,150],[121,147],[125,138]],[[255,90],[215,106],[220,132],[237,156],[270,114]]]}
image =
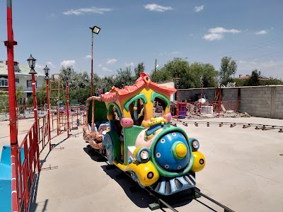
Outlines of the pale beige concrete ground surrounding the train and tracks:
{"label": "pale beige concrete ground surrounding the train and tracks", "polygon": [[[283,133],[277,129],[256,130],[255,127],[230,127],[205,122],[236,122],[283,126],[282,119],[255,117],[192,120],[204,122],[195,126],[178,126],[189,137],[200,141],[206,158],[204,170],[196,175],[197,187],[233,211],[283,211]],[[33,119],[19,122],[18,141]],[[0,122],[0,146],[9,143],[8,122]],[[42,153],[42,171],[38,175],[30,211],[150,211],[155,200],[143,189],[130,192],[132,179],[117,178],[118,169],[107,170],[107,163],[90,155],[82,138],[82,129],[52,140],[57,145]],[[6,135],[6,136],[5,136]],[[8,141],[8,142],[7,142]],[[179,196],[171,196],[178,199]],[[203,197],[175,205],[178,211],[224,211]],[[158,209],[157,211],[162,211]],[[165,208],[163,211],[171,211]]]}

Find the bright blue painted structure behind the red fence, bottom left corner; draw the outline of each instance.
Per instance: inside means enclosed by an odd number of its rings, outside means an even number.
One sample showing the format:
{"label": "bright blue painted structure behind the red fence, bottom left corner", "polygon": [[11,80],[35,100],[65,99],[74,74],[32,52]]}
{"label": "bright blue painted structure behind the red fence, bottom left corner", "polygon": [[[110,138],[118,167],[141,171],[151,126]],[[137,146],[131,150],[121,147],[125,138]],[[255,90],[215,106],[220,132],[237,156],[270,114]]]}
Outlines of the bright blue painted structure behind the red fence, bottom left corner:
{"label": "bright blue painted structure behind the red fence, bottom left corner", "polygon": [[[25,155],[21,148],[21,162]],[[11,211],[11,148],[3,146],[0,161],[0,208],[1,211]]]}

